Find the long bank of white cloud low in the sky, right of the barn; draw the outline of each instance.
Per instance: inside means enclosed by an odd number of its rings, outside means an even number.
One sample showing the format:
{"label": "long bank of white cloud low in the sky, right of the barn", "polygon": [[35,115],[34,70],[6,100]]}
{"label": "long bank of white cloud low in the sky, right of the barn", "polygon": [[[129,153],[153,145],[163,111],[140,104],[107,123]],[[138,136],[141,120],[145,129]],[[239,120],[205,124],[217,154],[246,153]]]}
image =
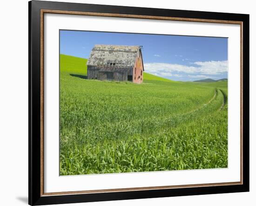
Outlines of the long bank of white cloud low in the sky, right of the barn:
{"label": "long bank of white cloud low in the sky, right of the barn", "polygon": [[[190,66],[191,65],[191,66]],[[145,63],[144,68],[148,73],[184,72],[187,74],[222,74],[228,71],[228,61],[194,62],[187,65],[167,63]],[[195,65],[195,66],[194,66]]]}

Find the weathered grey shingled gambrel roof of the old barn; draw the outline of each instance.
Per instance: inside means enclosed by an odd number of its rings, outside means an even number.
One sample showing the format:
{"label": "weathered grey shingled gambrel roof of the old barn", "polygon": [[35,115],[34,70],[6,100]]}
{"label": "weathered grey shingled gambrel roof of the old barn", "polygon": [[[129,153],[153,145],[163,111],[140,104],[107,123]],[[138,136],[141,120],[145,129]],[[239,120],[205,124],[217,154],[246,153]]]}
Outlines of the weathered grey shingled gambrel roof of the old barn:
{"label": "weathered grey shingled gambrel roof of the old barn", "polygon": [[118,66],[134,66],[137,52],[141,46],[126,45],[94,45],[87,65],[109,65],[115,63]]}

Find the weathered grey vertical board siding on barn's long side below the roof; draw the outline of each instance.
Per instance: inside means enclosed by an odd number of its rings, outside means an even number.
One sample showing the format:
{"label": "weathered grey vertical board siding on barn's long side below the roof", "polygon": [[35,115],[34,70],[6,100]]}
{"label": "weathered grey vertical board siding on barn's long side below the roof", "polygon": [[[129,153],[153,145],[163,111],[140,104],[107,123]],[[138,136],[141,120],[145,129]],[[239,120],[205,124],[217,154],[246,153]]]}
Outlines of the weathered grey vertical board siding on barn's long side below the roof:
{"label": "weathered grey vertical board siding on barn's long side below the roof", "polygon": [[110,80],[107,79],[107,72],[114,72],[113,81],[128,81],[128,75],[133,75],[133,67],[88,66],[88,79]]}

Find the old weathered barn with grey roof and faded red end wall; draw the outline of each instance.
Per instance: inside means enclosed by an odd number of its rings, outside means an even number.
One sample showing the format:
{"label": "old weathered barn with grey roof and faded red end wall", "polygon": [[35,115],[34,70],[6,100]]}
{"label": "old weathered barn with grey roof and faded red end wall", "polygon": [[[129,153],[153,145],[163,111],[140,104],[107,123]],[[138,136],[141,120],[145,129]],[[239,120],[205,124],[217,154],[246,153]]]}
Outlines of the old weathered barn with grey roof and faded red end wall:
{"label": "old weathered barn with grey roof and faded red end wall", "polygon": [[94,45],[87,61],[88,79],[143,82],[142,46]]}

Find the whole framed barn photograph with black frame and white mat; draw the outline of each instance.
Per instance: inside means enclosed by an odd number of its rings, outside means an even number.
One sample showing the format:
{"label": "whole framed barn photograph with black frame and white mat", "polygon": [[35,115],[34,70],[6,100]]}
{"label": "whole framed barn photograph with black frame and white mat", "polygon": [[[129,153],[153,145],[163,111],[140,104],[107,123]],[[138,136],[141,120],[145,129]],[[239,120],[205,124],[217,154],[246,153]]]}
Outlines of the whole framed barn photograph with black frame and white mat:
{"label": "whole framed barn photograph with black frame and white mat", "polygon": [[249,191],[249,15],[29,6],[29,204]]}

